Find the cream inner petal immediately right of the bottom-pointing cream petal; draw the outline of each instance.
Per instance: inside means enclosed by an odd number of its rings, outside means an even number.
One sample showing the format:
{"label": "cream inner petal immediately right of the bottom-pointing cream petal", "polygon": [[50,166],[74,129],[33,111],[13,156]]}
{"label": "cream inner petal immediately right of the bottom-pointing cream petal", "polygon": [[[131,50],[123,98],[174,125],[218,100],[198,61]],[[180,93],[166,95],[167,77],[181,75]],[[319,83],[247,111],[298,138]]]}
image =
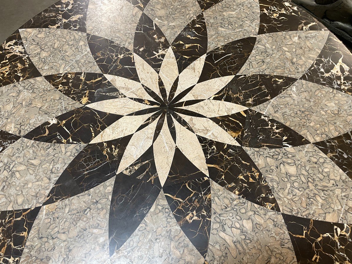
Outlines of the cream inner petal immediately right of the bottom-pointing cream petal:
{"label": "cream inner petal immediately right of the bottom-pointing cream petal", "polygon": [[184,128],[179,122],[172,118],[176,130],[176,145],[184,156],[190,160],[200,171],[209,176],[208,166],[205,162],[202,146],[197,136]]}

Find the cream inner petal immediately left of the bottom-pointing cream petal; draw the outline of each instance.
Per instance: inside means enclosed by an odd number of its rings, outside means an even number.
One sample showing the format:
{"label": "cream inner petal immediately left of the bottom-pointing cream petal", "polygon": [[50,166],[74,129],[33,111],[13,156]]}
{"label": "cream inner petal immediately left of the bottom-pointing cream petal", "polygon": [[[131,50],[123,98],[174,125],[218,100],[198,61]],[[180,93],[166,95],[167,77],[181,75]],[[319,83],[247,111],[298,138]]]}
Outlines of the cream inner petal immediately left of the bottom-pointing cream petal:
{"label": "cream inner petal immediately left of the bottom-pointing cream petal", "polygon": [[142,130],[133,134],[130,142],[128,143],[124,155],[122,156],[117,173],[120,173],[131,165],[136,159],[143,155],[147,149],[153,144],[153,137],[155,128],[159,118],[154,120],[151,124]]}

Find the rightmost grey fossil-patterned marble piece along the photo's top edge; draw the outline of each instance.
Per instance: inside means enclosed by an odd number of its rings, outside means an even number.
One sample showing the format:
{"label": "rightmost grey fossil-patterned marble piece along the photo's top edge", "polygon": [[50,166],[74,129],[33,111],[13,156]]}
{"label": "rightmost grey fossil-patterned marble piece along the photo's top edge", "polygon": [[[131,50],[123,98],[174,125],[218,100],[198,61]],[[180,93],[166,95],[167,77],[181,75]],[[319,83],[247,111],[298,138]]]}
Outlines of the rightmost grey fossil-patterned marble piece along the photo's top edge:
{"label": "rightmost grey fossil-patterned marble piece along the photo's top edge", "polygon": [[223,0],[203,14],[208,32],[208,51],[258,33],[258,0]]}

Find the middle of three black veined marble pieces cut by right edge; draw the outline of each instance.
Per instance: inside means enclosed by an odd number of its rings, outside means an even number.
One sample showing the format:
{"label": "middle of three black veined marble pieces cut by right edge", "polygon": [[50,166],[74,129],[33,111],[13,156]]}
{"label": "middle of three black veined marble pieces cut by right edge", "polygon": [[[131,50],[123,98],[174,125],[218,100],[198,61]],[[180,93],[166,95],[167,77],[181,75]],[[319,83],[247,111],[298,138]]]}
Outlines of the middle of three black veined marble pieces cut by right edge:
{"label": "middle of three black veined marble pieces cut by right edge", "polygon": [[352,179],[352,132],[313,143]]}

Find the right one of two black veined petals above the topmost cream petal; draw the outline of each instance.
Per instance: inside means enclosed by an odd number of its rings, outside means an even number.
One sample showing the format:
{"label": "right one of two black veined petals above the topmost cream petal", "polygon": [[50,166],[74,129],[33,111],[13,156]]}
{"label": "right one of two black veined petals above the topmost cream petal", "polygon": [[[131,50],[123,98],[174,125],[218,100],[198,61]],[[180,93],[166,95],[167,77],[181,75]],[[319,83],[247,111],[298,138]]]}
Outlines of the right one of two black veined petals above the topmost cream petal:
{"label": "right one of two black veined petals above the topmost cream petal", "polygon": [[178,72],[181,73],[189,64],[207,53],[208,34],[203,13],[197,15],[171,44],[174,51]]}

